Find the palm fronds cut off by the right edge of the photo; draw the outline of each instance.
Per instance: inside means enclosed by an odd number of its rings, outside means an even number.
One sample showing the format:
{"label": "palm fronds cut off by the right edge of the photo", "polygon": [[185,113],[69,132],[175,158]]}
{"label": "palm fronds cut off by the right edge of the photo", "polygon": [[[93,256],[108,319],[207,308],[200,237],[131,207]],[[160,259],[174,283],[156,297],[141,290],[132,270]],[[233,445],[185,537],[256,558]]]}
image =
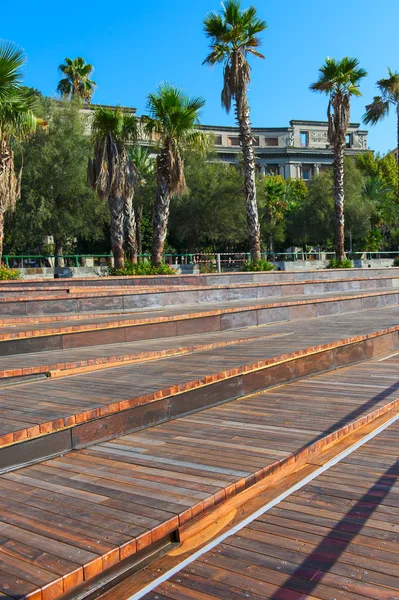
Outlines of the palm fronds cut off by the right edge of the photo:
{"label": "palm fronds cut off by the right edge of the photo", "polygon": [[[393,106],[396,112],[396,147],[399,151],[399,73],[391,71],[388,67],[388,77],[377,81],[377,87],[381,92],[381,96],[374,96],[373,102],[366,106],[363,121],[367,125],[369,123],[375,125],[389,115],[389,110]],[[396,163],[398,167],[398,187],[396,194],[399,202],[399,154],[397,155]]]}

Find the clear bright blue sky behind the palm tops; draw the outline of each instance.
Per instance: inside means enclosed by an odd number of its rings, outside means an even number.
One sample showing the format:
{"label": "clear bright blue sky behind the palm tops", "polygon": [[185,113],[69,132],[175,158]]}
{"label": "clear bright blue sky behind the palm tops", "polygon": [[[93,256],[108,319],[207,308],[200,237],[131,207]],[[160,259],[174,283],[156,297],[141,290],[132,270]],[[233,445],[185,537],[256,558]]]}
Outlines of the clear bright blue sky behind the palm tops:
{"label": "clear bright blue sky behind the palm tops", "polygon": [[[243,0],[246,7],[251,2]],[[254,126],[287,126],[290,119],[325,119],[326,98],[309,91],[326,56],[356,56],[369,75],[364,98],[355,99],[352,121],[376,93],[389,65],[399,70],[398,0],[254,0],[268,23],[263,35],[267,60],[252,60],[249,100]],[[229,125],[234,115],[220,106],[220,67],[202,66],[207,40],[204,16],[219,0],[95,0],[73,7],[54,1],[22,0],[3,9],[0,35],[28,55],[27,85],[53,96],[65,56],[83,56],[95,66],[94,102],[145,110],[146,95],[162,81],[202,95],[204,124]],[[396,50],[395,50],[396,48]],[[370,128],[369,146],[385,153],[396,146],[395,115]]]}

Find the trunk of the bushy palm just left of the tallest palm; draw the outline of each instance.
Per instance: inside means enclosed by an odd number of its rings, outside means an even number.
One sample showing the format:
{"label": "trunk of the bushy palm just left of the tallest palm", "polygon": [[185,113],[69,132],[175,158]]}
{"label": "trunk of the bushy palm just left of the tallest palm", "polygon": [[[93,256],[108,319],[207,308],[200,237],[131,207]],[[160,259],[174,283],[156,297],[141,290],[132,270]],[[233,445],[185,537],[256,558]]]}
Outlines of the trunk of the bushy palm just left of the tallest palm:
{"label": "trunk of the bushy palm just left of the tallest palm", "polygon": [[166,166],[168,164],[166,153],[158,155],[157,162],[157,197],[152,221],[151,252],[151,263],[154,267],[158,267],[162,263],[170,207],[170,177]]}

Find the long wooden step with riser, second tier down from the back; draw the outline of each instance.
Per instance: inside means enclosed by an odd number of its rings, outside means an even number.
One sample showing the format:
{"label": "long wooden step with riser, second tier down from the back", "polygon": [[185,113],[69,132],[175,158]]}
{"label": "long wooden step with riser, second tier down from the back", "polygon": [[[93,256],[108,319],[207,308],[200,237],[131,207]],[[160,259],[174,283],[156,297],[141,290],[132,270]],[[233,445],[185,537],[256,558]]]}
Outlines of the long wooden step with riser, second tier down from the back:
{"label": "long wooden step with riser, second tier down from the back", "polygon": [[118,315],[87,315],[84,319],[39,323],[4,323],[0,326],[0,356],[66,350],[195,333],[226,331],[300,318],[357,312],[397,305],[399,292],[392,290],[326,293],[292,296],[272,301],[236,300],[202,306],[174,306]]}

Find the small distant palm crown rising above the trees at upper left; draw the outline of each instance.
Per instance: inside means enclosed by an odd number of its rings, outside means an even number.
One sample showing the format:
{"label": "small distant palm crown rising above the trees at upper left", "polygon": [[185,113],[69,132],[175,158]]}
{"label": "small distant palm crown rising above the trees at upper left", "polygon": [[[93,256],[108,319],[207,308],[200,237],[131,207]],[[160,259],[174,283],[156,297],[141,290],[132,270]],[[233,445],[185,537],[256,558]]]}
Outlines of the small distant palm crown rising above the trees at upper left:
{"label": "small distant palm crown rising above the trees at upper left", "polygon": [[63,98],[81,98],[90,104],[96,87],[95,81],[90,79],[90,75],[94,71],[93,65],[87,64],[84,58],[77,56],[73,60],[64,58],[64,63],[58,69],[63,75],[57,86],[57,91],[61,96]]}

